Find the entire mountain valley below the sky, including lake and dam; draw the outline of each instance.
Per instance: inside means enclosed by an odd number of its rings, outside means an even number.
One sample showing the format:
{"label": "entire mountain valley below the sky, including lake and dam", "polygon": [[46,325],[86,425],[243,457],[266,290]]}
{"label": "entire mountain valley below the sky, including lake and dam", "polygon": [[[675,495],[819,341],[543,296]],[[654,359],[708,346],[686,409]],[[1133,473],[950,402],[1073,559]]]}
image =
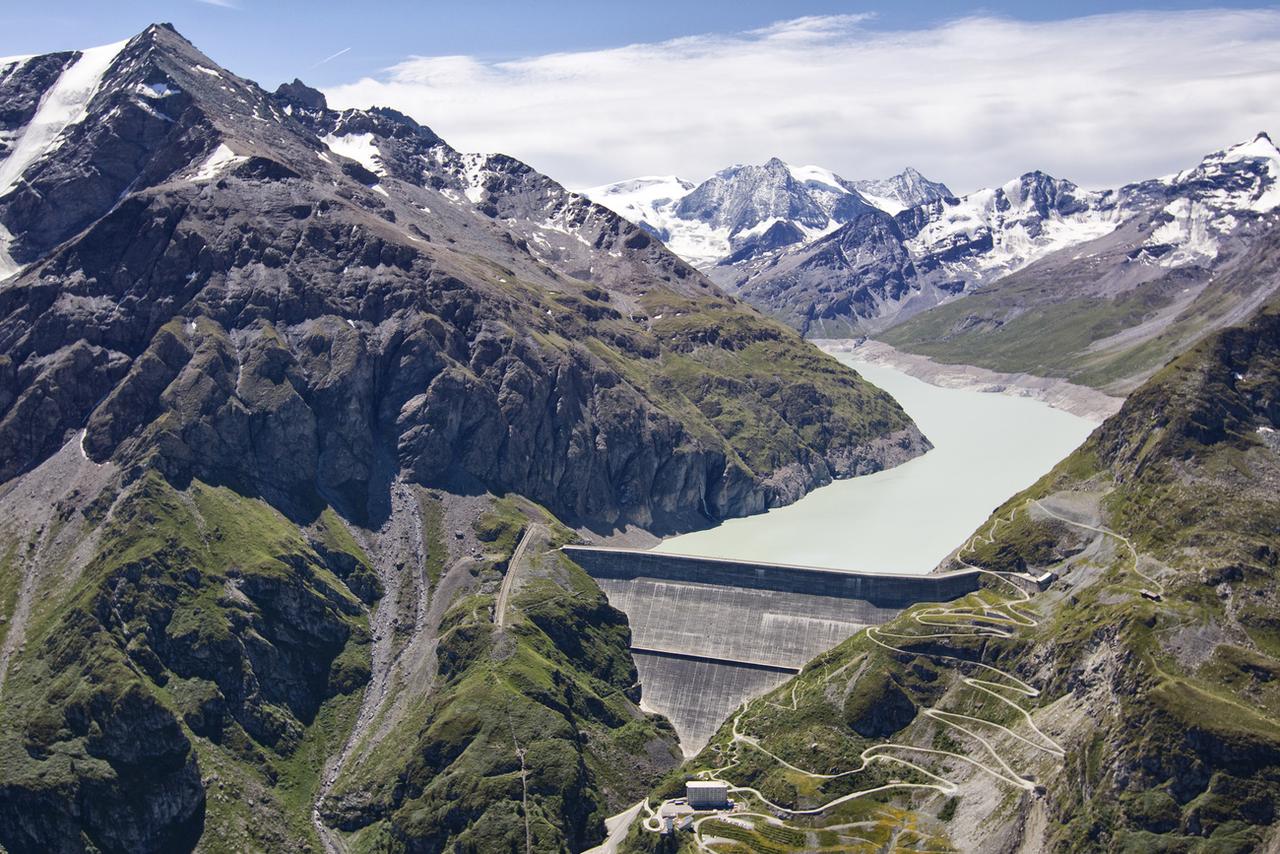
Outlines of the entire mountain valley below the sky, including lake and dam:
{"label": "entire mountain valley below the sky, including lake and dam", "polygon": [[347,99],[0,58],[0,854],[1280,850],[1266,133],[575,192]]}

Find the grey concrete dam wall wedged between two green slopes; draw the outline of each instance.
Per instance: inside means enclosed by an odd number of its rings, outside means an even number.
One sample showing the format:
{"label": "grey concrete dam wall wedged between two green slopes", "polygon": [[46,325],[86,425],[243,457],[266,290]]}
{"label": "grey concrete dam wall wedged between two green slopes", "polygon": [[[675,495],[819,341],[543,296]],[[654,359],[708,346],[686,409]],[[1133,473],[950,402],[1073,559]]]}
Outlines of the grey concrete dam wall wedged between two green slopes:
{"label": "grey concrete dam wall wedged between two green slopes", "polygon": [[744,700],[918,602],[978,589],[978,572],[887,575],[566,545],[627,615],[641,705],[698,753]]}

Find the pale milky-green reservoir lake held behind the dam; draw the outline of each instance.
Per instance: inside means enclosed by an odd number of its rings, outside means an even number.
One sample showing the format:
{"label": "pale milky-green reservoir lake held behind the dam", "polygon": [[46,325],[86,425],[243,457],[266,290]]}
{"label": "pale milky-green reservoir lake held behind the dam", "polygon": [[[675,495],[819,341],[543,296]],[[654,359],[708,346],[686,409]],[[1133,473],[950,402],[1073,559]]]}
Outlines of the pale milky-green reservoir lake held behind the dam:
{"label": "pale milky-green reservoir lake held behind the dam", "polygon": [[837,359],[892,394],[933,449],[887,471],[837,480],[787,507],[673,536],[654,551],[928,572],[1097,426],[1029,397],[941,388],[884,365]]}

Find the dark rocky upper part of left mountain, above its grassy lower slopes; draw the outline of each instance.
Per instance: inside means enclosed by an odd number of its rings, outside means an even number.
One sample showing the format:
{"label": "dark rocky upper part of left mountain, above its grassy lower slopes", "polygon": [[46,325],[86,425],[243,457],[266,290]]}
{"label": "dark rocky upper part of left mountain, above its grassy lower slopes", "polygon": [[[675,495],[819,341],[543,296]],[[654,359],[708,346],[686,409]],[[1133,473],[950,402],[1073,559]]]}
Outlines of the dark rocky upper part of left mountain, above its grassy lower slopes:
{"label": "dark rocky upper part of left mountain, above its grassy lower slopes", "polygon": [[[0,293],[0,476],[87,425],[96,460],[282,504],[360,507],[379,458],[604,526],[796,497],[627,375],[662,374],[649,318],[672,302],[749,319],[733,347],[790,339],[524,164],[393,111],[270,96],[163,28],[84,109],[101,120],[68,127],[0,202],[27,265]],[[777,462],[808,488],[849,446]]]}

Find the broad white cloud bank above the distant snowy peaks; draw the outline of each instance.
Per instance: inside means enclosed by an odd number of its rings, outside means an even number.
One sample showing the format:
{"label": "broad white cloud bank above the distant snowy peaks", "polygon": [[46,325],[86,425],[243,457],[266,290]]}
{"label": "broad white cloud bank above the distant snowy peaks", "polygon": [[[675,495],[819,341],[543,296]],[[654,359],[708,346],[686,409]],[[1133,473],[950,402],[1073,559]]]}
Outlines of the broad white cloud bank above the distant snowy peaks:
{"label": "broad white cloud bank above the distant snowy peaks", "polygon": [[570,186],[700,179],[777,155],[849,178],[914,165],[965,191],[1044,169],[1110,186],[1280,132],[1280,10],[965,18],[884,32],[858,15],[512,61],[411,58],[328,90]]}

